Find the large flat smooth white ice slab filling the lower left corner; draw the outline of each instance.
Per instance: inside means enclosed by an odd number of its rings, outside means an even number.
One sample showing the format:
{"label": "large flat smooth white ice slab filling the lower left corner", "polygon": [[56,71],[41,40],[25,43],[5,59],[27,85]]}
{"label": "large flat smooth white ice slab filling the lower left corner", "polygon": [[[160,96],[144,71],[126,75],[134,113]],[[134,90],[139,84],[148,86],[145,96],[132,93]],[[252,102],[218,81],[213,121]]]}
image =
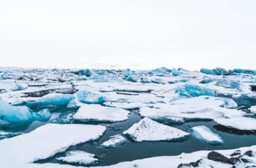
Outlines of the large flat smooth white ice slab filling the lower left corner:
{"label": "large flat smooth white ice slab filling the lower left corner", "polygon": [[19,167],[46,159],[71,145],[99,139],[105,130],[104,126],[48,123],[28,134],[1,140],[0,168]]}

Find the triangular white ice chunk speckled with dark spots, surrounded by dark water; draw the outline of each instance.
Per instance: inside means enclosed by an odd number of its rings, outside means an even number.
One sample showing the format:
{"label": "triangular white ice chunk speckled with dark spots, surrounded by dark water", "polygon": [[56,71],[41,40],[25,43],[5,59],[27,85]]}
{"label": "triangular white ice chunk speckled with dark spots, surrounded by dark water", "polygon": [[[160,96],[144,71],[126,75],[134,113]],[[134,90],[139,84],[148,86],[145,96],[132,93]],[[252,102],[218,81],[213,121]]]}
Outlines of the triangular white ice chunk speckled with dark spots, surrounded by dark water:
{"label": "triangular white ice chunk speckled with dark spots, surrounded by dark water", "polygon": [[134,123],[123,134],[134,141],[178,141],[189,135],[180,129],[165,126],[147,117],[143,118],[139,123]]}

